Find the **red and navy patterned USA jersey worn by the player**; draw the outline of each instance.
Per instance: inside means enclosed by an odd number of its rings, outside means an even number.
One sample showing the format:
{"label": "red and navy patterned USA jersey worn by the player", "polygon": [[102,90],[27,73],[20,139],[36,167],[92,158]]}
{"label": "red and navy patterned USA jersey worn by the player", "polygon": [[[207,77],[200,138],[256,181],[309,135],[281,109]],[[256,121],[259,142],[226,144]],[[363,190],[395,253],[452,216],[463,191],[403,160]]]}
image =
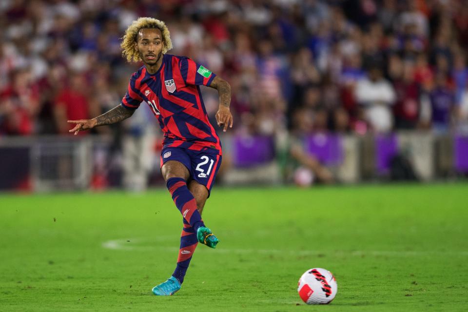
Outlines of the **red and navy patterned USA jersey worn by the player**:
{"label": "red and navy patterned USA jersey worn by the player", "polygon": [[142,102],[148,104],[164,133],[164,147],[211,148],[221,155],[199,87],[210,86],[215,76],[192,59],[165,54],[155,74],[142,66],[132,75],[121,105],[135,110]]}

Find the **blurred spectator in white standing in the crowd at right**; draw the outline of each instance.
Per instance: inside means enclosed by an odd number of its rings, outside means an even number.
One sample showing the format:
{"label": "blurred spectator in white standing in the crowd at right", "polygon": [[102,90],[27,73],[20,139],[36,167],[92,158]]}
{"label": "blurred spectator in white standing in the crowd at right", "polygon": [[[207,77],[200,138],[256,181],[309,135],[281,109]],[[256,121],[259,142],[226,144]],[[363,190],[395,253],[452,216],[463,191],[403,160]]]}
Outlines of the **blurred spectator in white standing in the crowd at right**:
{"label": "blurred spectator in white standing in the crowd at right", "polygon": [[356,85],[356,99],[364,108],[364,114],[372,128],[377,132],[389,132],[393,127],[393,114],[390,106],[396,95],[393,86],[383,77],[382,69],[374,64],[368,77]]}

